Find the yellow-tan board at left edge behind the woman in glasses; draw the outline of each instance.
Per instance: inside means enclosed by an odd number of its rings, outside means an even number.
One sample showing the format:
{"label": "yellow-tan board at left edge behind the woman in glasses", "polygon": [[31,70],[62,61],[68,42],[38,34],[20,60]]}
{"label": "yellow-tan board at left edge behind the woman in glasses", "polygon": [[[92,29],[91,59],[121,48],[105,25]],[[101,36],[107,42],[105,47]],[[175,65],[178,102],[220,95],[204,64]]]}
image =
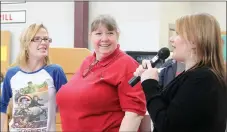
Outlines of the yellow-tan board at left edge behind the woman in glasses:
{"label": "yellow-tan board at left edge behind the woman in glasses", "polygon": [[1,31],[1,72],[5,75],[10,63],[10,41],[9,31]]}

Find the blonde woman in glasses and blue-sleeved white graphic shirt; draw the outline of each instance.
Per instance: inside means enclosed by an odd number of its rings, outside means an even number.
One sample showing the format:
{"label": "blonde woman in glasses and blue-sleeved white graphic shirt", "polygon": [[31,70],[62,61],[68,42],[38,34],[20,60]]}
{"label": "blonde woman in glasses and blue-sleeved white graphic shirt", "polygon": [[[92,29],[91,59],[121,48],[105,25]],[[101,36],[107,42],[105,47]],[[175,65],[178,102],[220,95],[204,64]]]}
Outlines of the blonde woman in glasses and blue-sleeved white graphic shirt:
{"label": "blonde woman in glasses and blue-sleeved white graphic shirt", "polygon": [[55,94],[67,80],[59,65],[50,64],[51,41],[43,24],[32,24],[21,35],[16,66],[6,73],[0,102],[3,126],[13,100],[10,131],[55,131]]}

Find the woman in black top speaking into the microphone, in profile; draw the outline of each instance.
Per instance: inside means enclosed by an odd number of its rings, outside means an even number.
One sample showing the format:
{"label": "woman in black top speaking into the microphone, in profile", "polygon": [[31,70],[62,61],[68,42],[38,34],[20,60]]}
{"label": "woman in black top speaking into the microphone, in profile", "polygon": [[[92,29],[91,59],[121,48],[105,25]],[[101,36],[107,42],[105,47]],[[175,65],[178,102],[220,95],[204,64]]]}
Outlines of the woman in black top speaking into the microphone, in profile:
{"label": "woman in black top speaking into the microphone, in profile", "polygon": [[224,132],[227,88],[219,24],[213,16],[198,13],[179,18],[176,31],[170,40],[173,59],[184,62],[185,71],[163,91],[158,70],[149,61],[134,73],[141,76],[154,132]]}

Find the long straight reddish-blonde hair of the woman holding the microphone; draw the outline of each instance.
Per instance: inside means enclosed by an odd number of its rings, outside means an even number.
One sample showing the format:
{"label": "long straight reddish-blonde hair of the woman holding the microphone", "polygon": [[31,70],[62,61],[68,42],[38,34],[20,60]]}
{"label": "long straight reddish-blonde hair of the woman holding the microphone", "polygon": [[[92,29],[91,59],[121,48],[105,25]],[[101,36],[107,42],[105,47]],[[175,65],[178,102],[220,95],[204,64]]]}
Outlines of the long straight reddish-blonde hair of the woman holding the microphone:
{"label": "long straight reddish-blonde hair of the woman holding the microphone", "polygon": [[218,21],[210,14],[196,13],[176,20],[176,31],[185,40],[196,44],[198,63],[194,66],[208,66],[224,81],[226,69],[223,58],[221,29]]}

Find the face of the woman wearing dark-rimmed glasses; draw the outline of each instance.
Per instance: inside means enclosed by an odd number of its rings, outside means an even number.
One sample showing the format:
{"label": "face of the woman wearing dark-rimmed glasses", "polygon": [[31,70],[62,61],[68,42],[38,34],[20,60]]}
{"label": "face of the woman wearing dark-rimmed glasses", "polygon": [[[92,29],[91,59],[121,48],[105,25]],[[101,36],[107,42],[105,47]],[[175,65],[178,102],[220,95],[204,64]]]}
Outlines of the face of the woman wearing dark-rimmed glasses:
{"label": "face of the woman wearing dark-rimmed glasses", "polygon": [[48,56],[50,42],[46,29],[39,29],[28,46],[29,59],[44,59]]}

